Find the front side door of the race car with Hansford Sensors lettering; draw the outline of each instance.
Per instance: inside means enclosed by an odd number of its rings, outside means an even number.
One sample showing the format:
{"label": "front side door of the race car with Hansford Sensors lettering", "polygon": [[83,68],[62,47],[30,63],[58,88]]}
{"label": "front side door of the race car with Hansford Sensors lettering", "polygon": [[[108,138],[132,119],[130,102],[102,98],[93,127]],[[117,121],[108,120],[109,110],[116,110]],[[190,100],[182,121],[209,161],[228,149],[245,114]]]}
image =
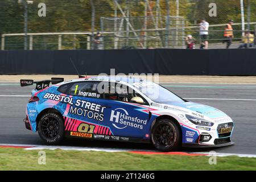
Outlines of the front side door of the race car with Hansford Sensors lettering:
{"label": "front side door of the race car with Hansford Sensors lettering", "polygon": [[[112,135],[144,138],[150,131],[147,101],[127,85],[119,84],[118,86],[115,83],[115,88],[113,83],[109,82],[108,85],[102,101],[102,105],[106,106],[104,121],[100,124],[109,127]],[[134,97],[141,97],[144,103],[132,101]]]}

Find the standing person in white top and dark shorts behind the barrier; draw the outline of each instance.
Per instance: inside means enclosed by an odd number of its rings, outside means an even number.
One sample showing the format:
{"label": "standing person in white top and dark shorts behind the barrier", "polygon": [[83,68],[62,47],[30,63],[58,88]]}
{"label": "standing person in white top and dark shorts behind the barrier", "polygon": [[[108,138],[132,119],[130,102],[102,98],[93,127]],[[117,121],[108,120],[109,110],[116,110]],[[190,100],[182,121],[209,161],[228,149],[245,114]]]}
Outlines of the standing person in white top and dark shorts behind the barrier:
{"label": "standing person in white top and dark shorts behind the barrier", "polygon": [[209,30],[209,23],[205,20],[205,18],[201,18],[201,22],[199,24],[200,27],[200,39],[201,39],[201,46],[200,49],[208,49],[208,30]]}

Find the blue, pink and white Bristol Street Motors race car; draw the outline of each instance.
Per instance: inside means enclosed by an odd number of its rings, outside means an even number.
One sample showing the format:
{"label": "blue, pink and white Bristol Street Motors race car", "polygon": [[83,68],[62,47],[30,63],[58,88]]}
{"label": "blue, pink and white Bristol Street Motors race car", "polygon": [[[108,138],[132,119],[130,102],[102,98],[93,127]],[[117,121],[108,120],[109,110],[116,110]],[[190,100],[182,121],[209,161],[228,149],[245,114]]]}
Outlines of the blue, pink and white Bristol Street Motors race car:
{"label": "blue, pink and white Bristol Street Motors race car", "polygon": [[33,84],[24,122],[47,144],[73,137],[152,143],[164,152],[233,144],[228,115],[155,82],[116,76],[20,80],[21,86]]}

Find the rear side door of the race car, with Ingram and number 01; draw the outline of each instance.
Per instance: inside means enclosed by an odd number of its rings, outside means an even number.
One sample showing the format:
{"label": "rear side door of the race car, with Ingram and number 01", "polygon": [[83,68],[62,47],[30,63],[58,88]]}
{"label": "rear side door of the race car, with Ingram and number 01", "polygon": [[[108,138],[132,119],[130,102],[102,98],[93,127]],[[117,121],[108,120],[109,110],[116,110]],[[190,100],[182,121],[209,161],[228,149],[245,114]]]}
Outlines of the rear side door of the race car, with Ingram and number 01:
{"label": "rear side door of the race car, with Ingram and number 01", "polygon": [[92,134],[98,133],[99,123],[104,119],[105,106],[101,104],[103,94],[97,92],[97,85],[96,81],[80,81],[68,86],[67,93],[72,97],[72,102],[67,104],[64,119],[65,130],[75,132],[71,135],[92,138]]}

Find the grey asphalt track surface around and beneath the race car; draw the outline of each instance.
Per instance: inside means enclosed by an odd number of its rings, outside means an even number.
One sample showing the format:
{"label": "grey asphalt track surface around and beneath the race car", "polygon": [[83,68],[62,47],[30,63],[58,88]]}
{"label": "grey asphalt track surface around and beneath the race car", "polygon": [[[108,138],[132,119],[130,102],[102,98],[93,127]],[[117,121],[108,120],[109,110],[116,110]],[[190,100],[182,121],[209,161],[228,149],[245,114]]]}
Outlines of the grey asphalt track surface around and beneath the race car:
{"label": "grey asphalt track surface around and beneath the race car", "polygon": [[[234,145],[220,148],[181,148],[186,152],[225,152],[256,154],[256,84],[172,84],[168,89],[189,101],[216,107],[232,117],[235,127]],[[18,82],[0,82],[0,143],[44,143],[38,133],[26,130],[23,118],[33,86],[21,88]],[[10,97],[11,96],[11,97]],[[16,97],[14,97],[16,96]],[[25,96],[25,97],[22,97]],[[67,139],[61,145],[102,147],[129,150],[155,150],[151,144],[121,143],[96,140]]]}

